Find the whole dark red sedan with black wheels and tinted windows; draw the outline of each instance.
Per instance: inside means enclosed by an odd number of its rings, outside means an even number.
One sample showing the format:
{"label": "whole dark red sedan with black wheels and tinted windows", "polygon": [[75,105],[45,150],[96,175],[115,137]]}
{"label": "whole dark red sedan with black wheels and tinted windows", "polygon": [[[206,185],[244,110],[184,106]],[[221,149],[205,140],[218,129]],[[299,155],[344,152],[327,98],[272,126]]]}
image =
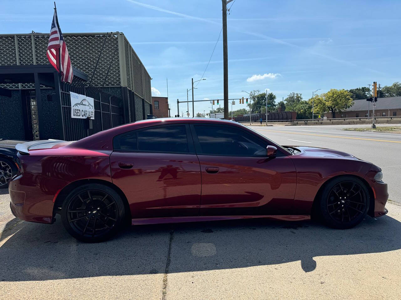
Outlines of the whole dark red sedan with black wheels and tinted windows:
{"label": "whole dark red sedan with black wheels and tinted windows", "polygon": [[236,218],[334,228],[387,213],[381,169],[350,154],[280,146],[239,123],[204,118],[134,122],[76,142],[18,144],[11,210],[55,222],[87,242],[123,224]]}

